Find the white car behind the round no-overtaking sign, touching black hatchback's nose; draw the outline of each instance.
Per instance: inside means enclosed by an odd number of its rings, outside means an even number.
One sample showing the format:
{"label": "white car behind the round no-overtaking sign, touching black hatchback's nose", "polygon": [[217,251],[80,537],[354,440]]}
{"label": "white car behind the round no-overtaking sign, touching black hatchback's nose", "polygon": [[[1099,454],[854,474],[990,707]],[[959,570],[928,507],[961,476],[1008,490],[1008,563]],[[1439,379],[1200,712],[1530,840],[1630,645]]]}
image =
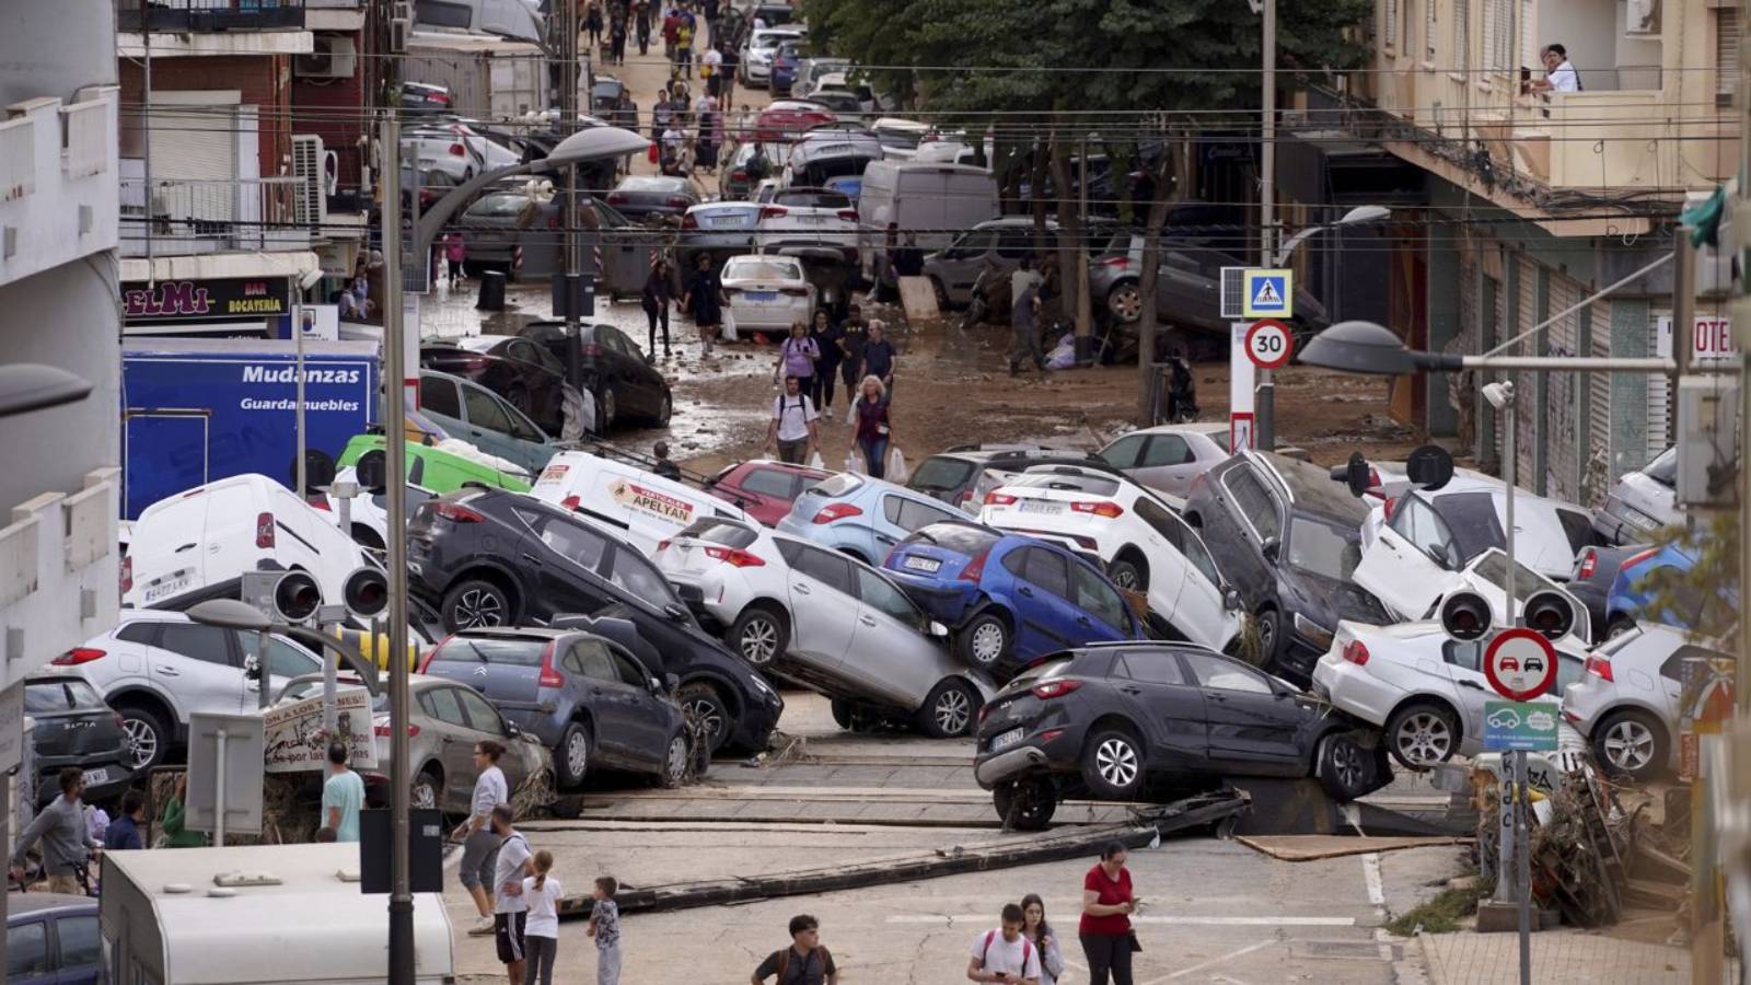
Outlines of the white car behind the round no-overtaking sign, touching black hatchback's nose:
{"label": "white car behind the round no-overtaking sign, touching black hatchback's nose", "polygon": [[[1313,664],[1313,691],[1341,712],[1380,726],[1387,750],[1411,769],[1483,752],[1485,703],[1499,699],[1480,661],[1487,640],[1462,643],[1439,622],[1338,622],[1331,650]],[[1574,636],[1557,645],[1557,685],[1537,698],[1555,717],[1564,685],[1581,677]]]}

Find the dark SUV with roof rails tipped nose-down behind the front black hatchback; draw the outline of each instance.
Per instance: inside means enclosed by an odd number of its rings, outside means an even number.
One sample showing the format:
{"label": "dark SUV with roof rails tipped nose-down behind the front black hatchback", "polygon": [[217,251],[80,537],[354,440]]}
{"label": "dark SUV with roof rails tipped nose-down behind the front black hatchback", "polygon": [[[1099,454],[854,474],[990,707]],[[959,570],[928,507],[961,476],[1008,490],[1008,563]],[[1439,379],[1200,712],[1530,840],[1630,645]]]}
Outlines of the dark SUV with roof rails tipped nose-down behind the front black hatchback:
{"label": "dark SUV with roof rails tipped nose-down behind the front black hatchback", "polygon": [[1217,564],[1259,619],[1259,647],[1306,684],[1340,619],[1394,622],[1352,582],[1368,507],[1331,471],[1273,452],[1240,452],[1192,482],[1185,522],[1219,545]]}

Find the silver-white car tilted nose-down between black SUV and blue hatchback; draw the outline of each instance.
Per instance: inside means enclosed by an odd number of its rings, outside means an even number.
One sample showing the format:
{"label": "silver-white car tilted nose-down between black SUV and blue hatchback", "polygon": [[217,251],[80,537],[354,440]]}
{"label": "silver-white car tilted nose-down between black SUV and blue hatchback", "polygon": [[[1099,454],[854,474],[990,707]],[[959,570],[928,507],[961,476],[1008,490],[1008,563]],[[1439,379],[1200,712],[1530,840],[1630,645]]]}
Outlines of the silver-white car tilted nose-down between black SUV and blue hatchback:
{"label": "silver-white car tilted nose-down between black SUV and blue hatchback", "polygon": [[996,692],[949,654],[947,627],[877,568],[753,521],[702,519],[657,552],[690,606],[748,663],[833,699],[849,726],[874,715],[933,738],[972,733]]}

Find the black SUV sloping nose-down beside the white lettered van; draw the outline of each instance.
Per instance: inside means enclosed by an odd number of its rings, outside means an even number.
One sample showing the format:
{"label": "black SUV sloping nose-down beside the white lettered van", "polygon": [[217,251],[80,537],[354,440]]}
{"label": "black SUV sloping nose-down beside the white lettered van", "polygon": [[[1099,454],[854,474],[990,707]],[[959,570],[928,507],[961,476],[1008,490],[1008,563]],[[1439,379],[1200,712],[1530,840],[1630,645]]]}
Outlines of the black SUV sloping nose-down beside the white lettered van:
{"label": "black SUV sloping nose-down beside the white lettered van", "polygon": [[679,678],[674,696],[706,722],[713,750],[765,748],[784,710],[636,547],[520,492],[469,487],[420,503],[408,522],[408,589],[438,608],[447,633],[580,612],[632,622],[650,647],[627,648]]}

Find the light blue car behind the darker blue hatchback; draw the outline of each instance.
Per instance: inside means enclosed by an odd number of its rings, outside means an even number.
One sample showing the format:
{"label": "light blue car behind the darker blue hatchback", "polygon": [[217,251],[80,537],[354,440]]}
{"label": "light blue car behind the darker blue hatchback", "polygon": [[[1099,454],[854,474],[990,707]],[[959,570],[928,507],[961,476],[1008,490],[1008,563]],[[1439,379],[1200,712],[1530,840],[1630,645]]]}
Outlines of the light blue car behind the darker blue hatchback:
{"label": "light blue car behind the darker blue hatchback", "polygon": [[777,529],[881,566],[909,533],[953,519],[967,515],[904,485],[840,471],[797,496]]}

